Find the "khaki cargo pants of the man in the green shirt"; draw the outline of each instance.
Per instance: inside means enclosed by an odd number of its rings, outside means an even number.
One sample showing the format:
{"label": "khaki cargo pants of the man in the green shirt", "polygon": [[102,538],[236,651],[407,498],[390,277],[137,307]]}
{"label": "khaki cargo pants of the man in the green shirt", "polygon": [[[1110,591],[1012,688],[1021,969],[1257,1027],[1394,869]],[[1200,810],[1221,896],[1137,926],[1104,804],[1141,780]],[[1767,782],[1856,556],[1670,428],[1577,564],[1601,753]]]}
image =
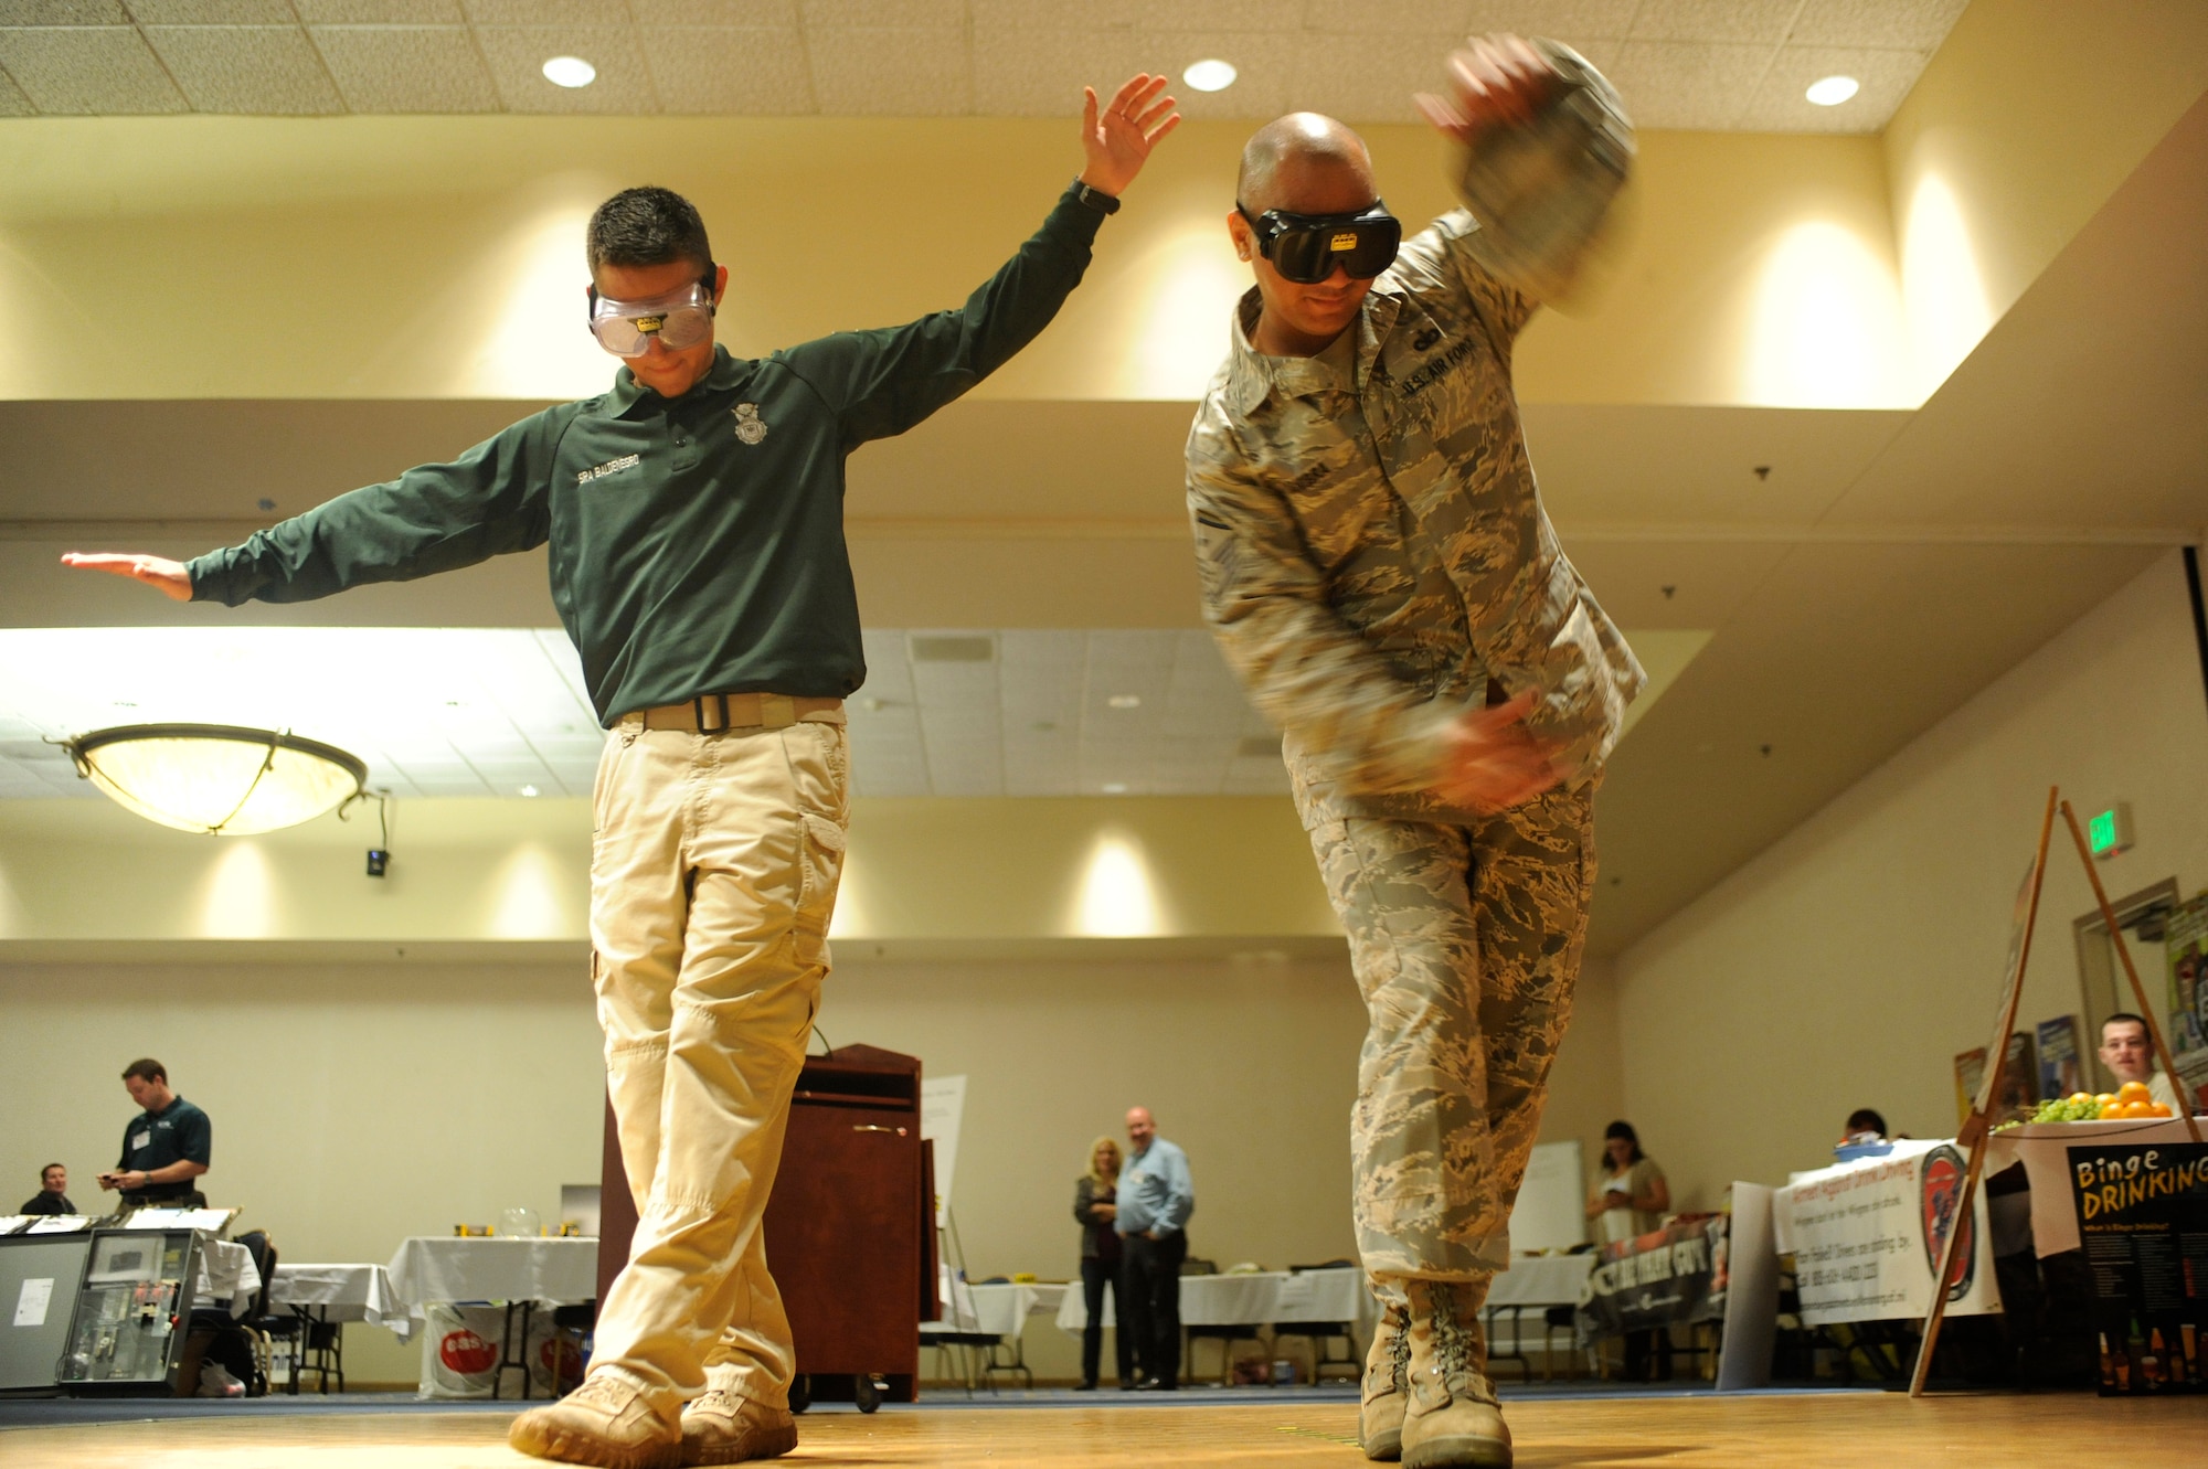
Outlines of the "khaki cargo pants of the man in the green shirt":
{"label": "khaki cargo pants of the man in the green shirt", "polygon": [[788,1401],[760,1220],[828,973],[848,772],[841,710],[713,735],[631,715],[598,761],[592,971],[638,1224],[592,1372],[669,1416],[709,1383]]}

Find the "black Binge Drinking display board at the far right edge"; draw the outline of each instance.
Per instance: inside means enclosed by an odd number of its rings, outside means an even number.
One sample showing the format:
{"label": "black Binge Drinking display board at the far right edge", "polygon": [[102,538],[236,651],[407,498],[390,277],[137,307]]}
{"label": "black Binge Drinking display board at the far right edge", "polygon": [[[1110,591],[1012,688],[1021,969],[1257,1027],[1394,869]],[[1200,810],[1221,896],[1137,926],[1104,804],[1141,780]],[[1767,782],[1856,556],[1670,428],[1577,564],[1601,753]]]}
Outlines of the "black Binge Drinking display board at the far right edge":
{"label": "black Binge Drinking display board at the far right edge", "polygon": [[2208,1392],[2208,1143],[2073,1147],[2100,1394]]}

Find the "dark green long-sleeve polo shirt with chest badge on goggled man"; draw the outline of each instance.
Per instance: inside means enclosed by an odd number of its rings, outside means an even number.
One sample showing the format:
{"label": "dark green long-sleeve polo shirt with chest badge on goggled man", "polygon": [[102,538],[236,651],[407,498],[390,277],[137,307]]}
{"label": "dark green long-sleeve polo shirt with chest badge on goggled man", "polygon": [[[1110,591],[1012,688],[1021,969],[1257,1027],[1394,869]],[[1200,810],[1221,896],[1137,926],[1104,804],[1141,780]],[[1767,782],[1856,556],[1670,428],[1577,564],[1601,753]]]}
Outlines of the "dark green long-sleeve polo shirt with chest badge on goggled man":
{"label": "dark green long-sleeve polo shirt with chest badge on goggled man", "polygon": [[1080,285],[1102,218],[1069,187],[963,309],[760,360],[715,349],[676,399],[620,368],[612,393],[199,556],[192,600],[305,602],[550,540],[552,602],[601,723],[704,693],[846,697],[866,657],[843,461],[1027,346]]}

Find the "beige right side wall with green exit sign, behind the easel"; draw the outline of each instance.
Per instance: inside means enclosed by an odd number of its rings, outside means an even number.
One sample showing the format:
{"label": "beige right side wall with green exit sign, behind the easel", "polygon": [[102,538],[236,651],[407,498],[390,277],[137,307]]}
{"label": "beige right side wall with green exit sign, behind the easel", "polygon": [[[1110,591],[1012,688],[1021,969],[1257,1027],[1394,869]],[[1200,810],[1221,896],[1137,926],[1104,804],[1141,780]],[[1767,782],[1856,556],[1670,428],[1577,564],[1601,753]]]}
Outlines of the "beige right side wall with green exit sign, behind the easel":
{"label": "beige right side wall with green exit sign, behind the easel", "polygon": [[[1954,1134],[1954,1054],[1992,1039],[2049,785],[2080,821],[2133,805],[2111,893],[2208,882],[2177,551],[1618,959],[1625,1107],[1682,1207],[1817,1167],[1853,1107]],[[2018,1028],[2082,1010],[2071,920],[2091,907],[2058,818]]]}

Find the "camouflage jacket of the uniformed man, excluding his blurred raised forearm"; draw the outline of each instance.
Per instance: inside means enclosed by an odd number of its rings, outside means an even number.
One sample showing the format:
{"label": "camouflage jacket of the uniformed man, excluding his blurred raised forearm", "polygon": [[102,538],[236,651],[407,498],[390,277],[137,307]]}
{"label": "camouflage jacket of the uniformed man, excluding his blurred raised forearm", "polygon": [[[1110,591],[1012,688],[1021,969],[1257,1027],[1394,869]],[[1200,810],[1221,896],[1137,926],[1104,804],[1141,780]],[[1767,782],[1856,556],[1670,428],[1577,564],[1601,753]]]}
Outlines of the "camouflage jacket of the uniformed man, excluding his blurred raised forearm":
{"label": "camouflage jacket of the uniformed man, excluding his blurred raised forearm", "polygon": [[1541,507],[1510,388],[1535,300],[1477,232],[1459,210],[1404,243],[1351,329],[1354,379],[1252,351],[1252,289],[1188,435],[1203,613],[1283,730],[1305,825],[1468,823],[1431,787],[1490,682],[1539,695],[1528,726],[1583,785],[1645,682]]}

